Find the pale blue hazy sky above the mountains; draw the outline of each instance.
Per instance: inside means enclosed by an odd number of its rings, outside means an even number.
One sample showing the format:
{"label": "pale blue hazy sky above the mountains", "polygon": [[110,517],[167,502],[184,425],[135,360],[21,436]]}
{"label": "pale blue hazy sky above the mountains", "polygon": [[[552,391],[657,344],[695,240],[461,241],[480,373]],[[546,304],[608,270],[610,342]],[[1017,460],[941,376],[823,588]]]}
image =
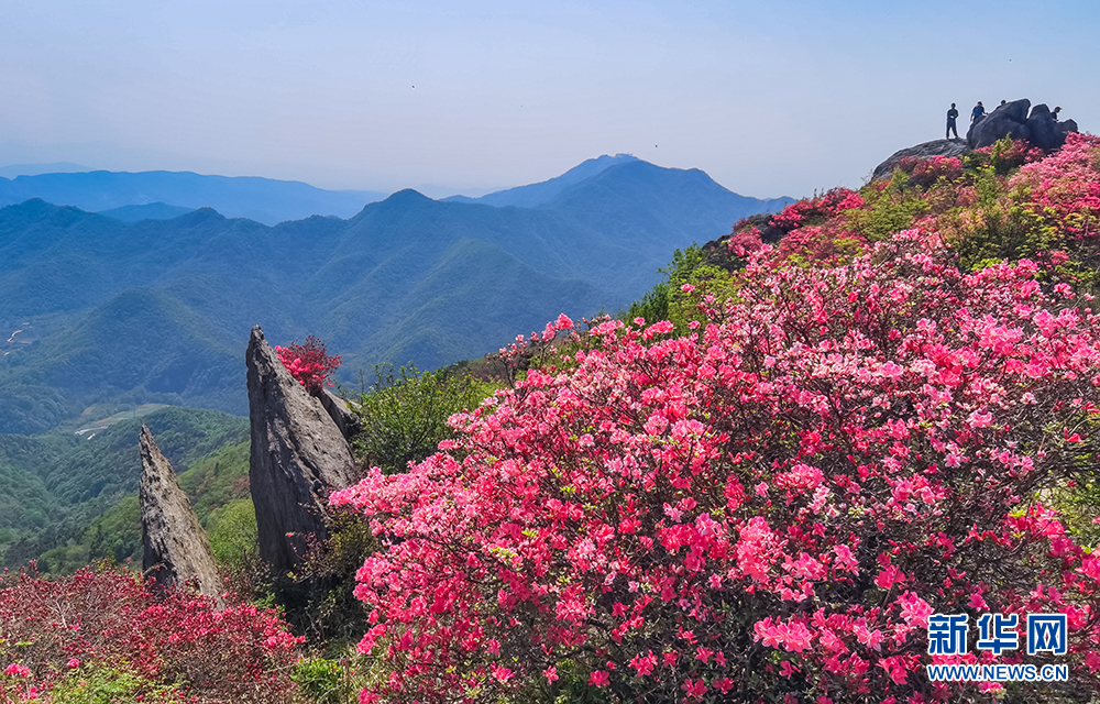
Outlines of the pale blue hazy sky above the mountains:
{"label": "pale blue hazy sky above the mountains", "polygon": [[628,153],[746,196],[865,183],[952,102],[1100,130],[1094,0],[0,0],[0,166],[432,197]]}

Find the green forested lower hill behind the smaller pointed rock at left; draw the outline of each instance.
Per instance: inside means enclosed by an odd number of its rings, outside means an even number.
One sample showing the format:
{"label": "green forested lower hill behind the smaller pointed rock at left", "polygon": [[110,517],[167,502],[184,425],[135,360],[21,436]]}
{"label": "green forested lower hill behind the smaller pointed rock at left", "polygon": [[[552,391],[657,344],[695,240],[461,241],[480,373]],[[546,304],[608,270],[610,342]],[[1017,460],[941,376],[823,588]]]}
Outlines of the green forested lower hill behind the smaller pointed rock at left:
{"label": "green forested lower hill behind the smaller pointed rock at left", "polygon": [[[200,520],[213,508],[248,496],[245,418],[169,407],[82,436],[72,429],[41,436],[0,435],[0,506],[9,501],[20,506],[13,512],[20,532],[18,538],[11,536],[14,539],[3,553],[3,564],[15,566],[44,558],[41,571],[64,574],[98,559],[123,562],[141,557],[135,492],[141,476],[138,432],[143,422],[173,466],[184,472],[182,482],[185,491],[190,488]],[[15,468],[8,471],[22,486],[4,484],[6,466]],[[6,486],[16,490],[11,498],[6,497]],[[40,514],[45,519],[36,524]],[[0,515],[0,526],[2,519]]]}

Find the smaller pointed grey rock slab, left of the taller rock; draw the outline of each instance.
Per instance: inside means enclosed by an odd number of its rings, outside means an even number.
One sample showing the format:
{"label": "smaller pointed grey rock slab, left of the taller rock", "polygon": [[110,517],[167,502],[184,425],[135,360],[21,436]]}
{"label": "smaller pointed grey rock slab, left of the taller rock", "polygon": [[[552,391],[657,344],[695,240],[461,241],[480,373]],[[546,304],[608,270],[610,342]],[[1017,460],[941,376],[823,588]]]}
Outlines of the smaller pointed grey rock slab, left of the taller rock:
{"label": "smaller pointed grey rock slab, left of the taller rock", "polygon": [[172,463],[161,453],[153,433],[142,426],[141,449],[142,570],[162,587],[182,586],[195,580],[200,594],[222,606],[221,582],[206,531],[179,488]]}

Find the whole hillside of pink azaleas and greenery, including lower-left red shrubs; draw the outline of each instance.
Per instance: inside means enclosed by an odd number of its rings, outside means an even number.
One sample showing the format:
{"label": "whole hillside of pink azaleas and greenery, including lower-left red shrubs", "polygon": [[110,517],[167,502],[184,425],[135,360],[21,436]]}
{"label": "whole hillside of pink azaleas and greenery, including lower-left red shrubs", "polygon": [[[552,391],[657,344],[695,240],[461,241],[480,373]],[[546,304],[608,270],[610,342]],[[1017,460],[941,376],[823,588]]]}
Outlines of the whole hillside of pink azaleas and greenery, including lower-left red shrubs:
{"label": "whole hillside of pink azaleas and greenery, including lower-left red shrubs", "polygon": [[[362,398],[364,479],[306,568],[330,591],[234,574],[216,612],[8,575],[0,701],[1090,701],[1098,215],[1097,138],[909,160],[678,251],[619,318],[520,337],[480,405],[492,384],[403,370]],[[930,654],[943,614],[1016,616],[1018,647]],[[1028,614],[1066,617],[1065,653],[1026,653]]]}

